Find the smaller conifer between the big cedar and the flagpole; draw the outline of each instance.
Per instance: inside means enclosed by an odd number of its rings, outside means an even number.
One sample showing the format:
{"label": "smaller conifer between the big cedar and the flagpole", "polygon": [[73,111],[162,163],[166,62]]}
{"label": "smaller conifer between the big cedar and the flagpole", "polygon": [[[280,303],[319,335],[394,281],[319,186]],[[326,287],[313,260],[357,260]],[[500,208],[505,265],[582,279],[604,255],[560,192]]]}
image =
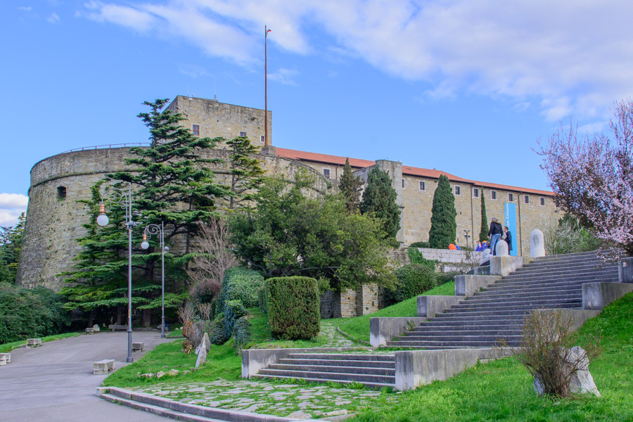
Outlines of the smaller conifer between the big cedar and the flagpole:
{"label": "smaller conifer between the big cedar and the flagpole", "polygon": [[253,193],[262,184],[264,170],[260,165],[260,160],[252,155],[257,153],[258,148],[250,144],[246,136],[226,141],[229,146],[229,173],[231,174],[231,196],[229,198],[229,209],[234,209],[243,201],[252,199]]}

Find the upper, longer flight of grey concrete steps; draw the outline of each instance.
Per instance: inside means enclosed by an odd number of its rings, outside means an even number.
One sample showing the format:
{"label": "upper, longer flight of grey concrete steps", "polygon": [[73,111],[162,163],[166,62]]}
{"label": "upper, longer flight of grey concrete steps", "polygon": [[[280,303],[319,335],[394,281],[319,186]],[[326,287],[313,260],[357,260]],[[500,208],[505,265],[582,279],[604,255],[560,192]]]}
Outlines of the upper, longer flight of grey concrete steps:
{"label": "upper, longer flight of grey concrete steps", "polygon": [[424,350],[520,343],[523,319],[534,309],[582,309],[582,283],[618,282],[618,266],[595,252],[537,258],[509,276],[388,342]]}

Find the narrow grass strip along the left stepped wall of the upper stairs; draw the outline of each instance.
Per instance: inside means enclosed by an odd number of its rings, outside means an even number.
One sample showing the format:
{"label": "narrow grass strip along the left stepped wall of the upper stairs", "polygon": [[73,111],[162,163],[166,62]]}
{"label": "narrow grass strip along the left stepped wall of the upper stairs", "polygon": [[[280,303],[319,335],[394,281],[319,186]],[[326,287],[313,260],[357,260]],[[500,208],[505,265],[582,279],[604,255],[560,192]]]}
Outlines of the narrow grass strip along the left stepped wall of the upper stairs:
{"label": "narrow grass strip along the left stepped wall of the upper stairs", "polygon": [[[442,284],[428,290],[423,295],[454,295],[455,294],[455,282]],[[369,319],[375,316],[417,316],[418,312],[418,300],[417,298],[410,298],[403,300],[390,307],[385,307],[373,314],[358,316],[356,318],[337,318],[328,319],[328,324],[338,326],[338,328],[350,335],[356,341],[362,340],[369,342]]]}

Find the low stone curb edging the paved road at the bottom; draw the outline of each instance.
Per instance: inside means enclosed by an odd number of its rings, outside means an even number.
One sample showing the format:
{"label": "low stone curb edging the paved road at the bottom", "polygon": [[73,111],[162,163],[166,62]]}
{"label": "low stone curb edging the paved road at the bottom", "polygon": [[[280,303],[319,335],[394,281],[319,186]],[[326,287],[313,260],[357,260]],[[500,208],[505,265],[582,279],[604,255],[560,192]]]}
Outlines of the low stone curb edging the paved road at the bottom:
{"label": "low stone curb edging the paved road at the bottom", "polygon": [[[110,396],[113,395],[112,393],[115,393],[115,397]],[[136,392],[117,387],[97,387],[95,395],[101,399],[107,400],[108,402],[118,402],[118,404],[122,404],[127,407],[134,407],[135,409],[148,411],[153,414],[158,414],[156,408],[160,407],[165,409],[165,412],[160,414],[160,416],[172,418],[175,416],[179,421],[200,421],[200,416],[202,416],[210,418],[209,420],[232,422],[330,422],[326,421],[326,419],[288,418],[268,414],[257,414],[241,410],[200,406],[198,404],[177,402],[176,400],[166,399],[165,397],[158,397],[144,392]],[[134,404],[131,402],[134,402]],[[173,411],[177,411],[179,414],[191,415],[191,418],[186,419],[181,415],[172,415]]]}

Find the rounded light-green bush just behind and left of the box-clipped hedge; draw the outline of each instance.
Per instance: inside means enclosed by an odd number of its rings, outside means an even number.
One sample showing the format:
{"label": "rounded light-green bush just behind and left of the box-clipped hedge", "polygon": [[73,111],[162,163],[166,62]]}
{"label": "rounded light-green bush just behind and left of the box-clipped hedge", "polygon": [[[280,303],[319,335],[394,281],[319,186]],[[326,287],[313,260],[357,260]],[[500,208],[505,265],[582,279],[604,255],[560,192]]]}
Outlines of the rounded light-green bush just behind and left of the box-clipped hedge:
{"label": "rounded light-green bush just behind and left of the box-clipped hedge", "polygon": [[259,305],[259,292],[264,286],[264,277],[257,271],[245,267],[233,267],[226,271],[219,308],[224,312],[224,302],[240,300],[246,308]]}

